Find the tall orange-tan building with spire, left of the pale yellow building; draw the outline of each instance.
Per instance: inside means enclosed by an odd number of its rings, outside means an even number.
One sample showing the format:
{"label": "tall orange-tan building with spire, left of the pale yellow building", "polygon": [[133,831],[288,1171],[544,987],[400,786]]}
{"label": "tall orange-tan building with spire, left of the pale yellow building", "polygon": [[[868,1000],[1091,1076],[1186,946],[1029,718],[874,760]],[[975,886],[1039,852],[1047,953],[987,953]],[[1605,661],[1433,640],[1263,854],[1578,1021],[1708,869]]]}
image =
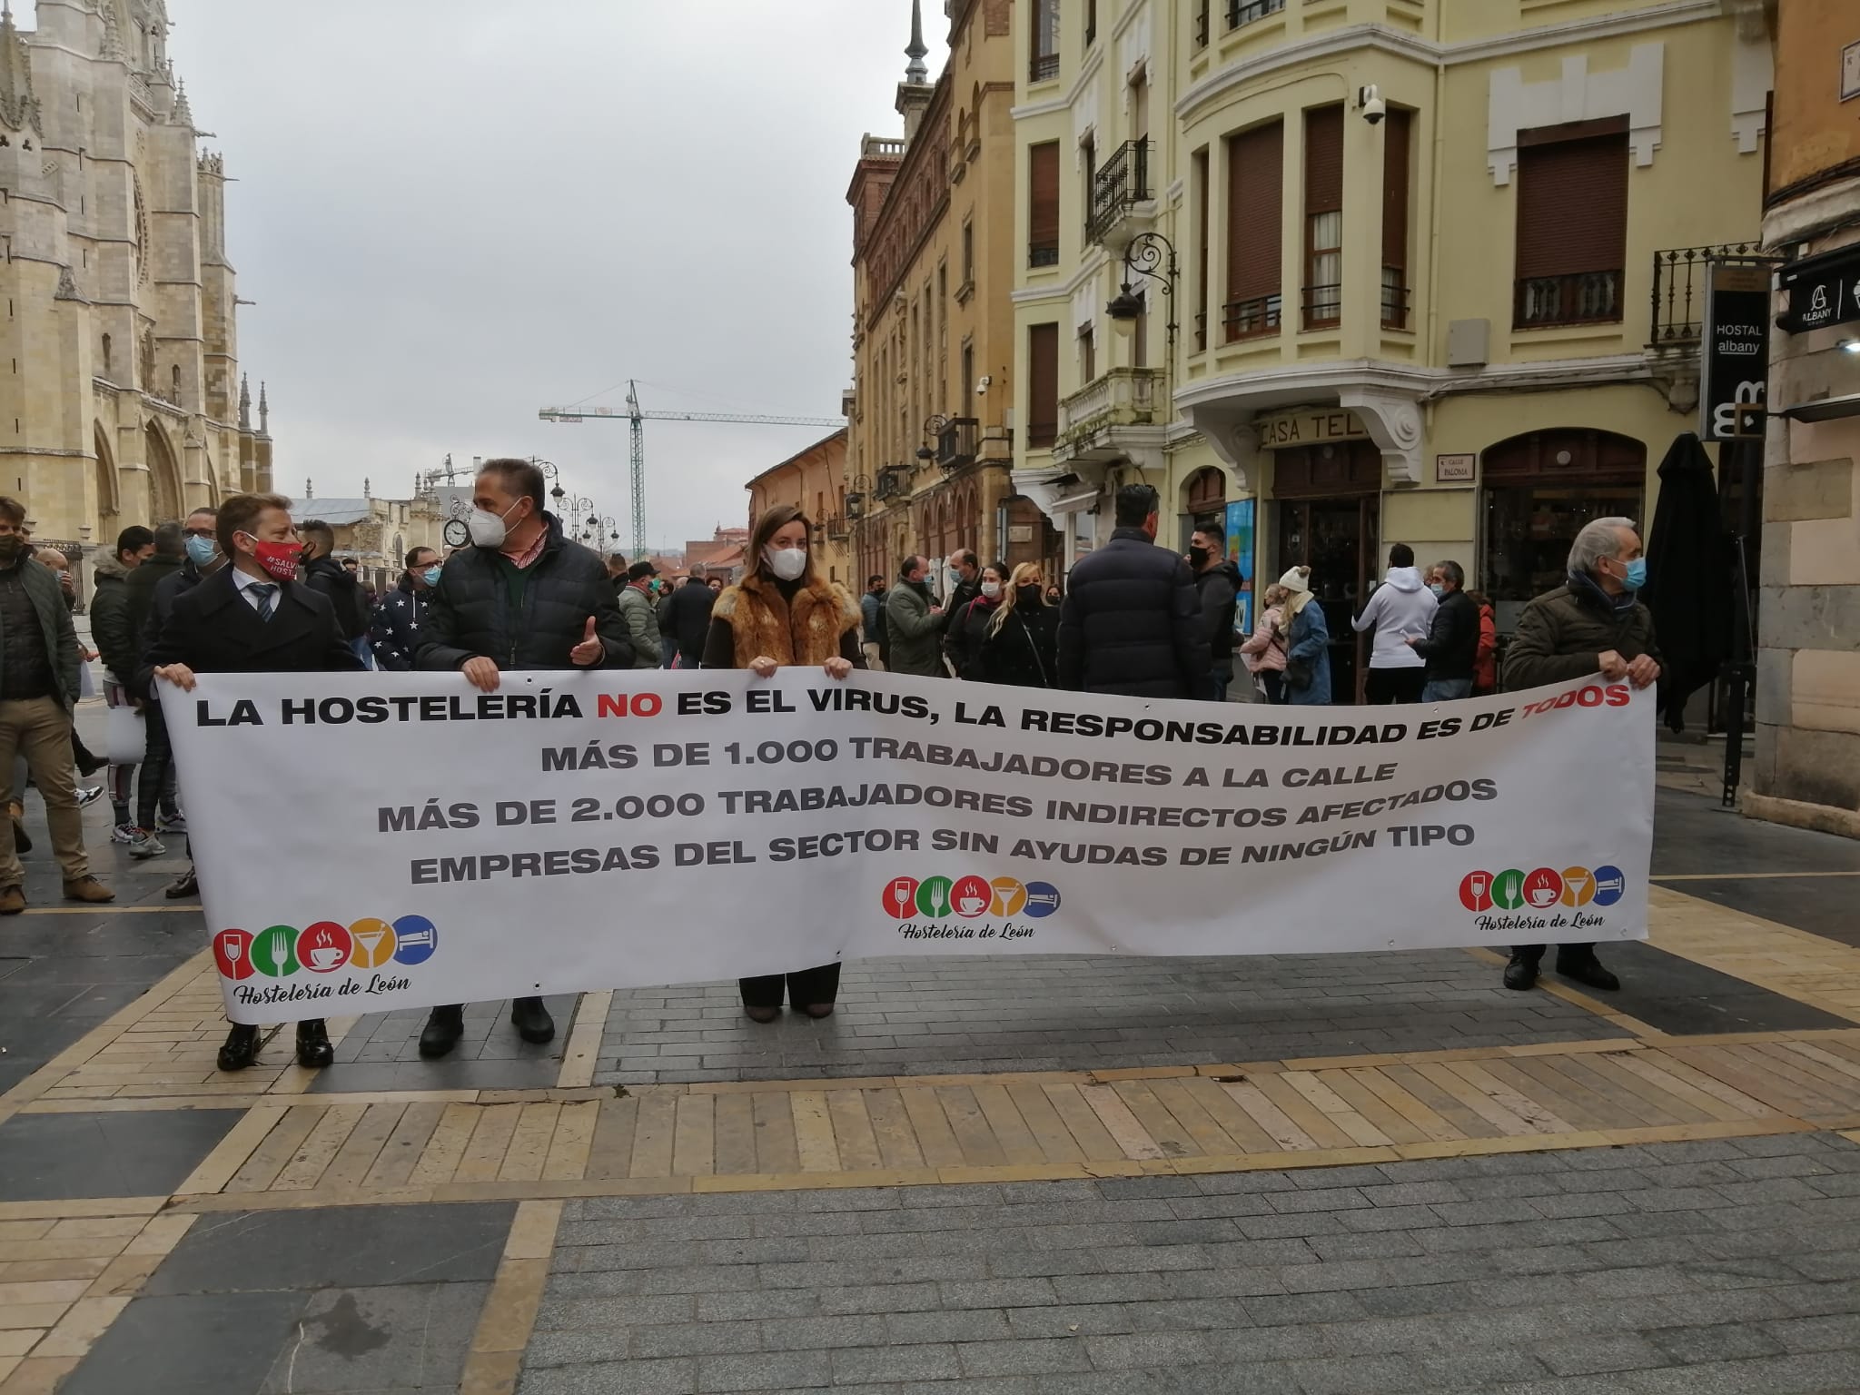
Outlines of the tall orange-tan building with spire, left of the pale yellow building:
{"label": "tall orange-tan building with spire, left of the pale yellow building", "polygon": [[[854,385],[846,534],[857,584],[904,556],[1042,556],[1043,519],[1010,500],[1014,404],[1016,0],[954,0],[930,84],[921,6],[898,84],[902,138],[867,136],[854,212]],[[900,20],[904,13],[900,9]]]}

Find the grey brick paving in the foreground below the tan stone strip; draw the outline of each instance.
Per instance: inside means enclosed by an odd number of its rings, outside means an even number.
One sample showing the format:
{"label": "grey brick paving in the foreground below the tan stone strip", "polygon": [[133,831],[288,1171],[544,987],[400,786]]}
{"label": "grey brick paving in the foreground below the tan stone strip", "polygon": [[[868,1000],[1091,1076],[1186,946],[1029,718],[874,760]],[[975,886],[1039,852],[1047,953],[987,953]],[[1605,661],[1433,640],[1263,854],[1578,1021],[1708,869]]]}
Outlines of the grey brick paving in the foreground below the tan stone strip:
{"label": "grey brick paving in the foreground below the tan stone strip", "polygon": [[603,1198],[523,1395],[1853,1391],[1830,1135],[1203,1177]]}

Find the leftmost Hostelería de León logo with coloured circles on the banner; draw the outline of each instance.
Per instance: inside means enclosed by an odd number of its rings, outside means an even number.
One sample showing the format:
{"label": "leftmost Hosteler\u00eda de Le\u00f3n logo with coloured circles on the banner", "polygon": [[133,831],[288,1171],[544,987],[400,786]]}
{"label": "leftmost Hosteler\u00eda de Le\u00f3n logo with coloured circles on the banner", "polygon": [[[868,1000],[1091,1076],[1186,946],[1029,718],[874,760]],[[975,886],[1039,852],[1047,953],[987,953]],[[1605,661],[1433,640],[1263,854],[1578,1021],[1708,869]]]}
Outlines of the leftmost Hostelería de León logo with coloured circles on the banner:
{"label": "leftmost Hosteler\u00eda de Le\u00f3n logo with coloured circles on the banner", "polygon": [[[314,921],[301,930],[273,924],[251,930],[219,930],[214,965],[221,978],[240,984],[244,1003],[281,1003],[301,997],[392,993],[407,988],[402,969],[426,963],[439,949],[439,926],[424,915],[379,921],[372,915],[350,924]],[[298,978],[292,991],[259,980]],[[340,986],[333,980],[342,976]]]}

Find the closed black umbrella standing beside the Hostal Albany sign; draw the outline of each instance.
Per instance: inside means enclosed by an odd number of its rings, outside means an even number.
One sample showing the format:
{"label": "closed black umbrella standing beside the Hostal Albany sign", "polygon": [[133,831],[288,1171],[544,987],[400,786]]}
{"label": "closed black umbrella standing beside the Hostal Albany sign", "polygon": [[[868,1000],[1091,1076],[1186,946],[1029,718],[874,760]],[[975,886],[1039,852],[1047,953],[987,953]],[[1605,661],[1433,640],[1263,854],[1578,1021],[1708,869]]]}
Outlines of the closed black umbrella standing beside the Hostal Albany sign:
{"label": "closed black umbrella standing beside the Hostal Albany sign", "polygon": [[1646,538],[1646,588],[1667,671],[1667,725],[1685,729],[1685,699],[1711,683],[1732,647],[1732,558],[1711,458],[1696,435],[1674,437],[1659,463],[1659,506]]}

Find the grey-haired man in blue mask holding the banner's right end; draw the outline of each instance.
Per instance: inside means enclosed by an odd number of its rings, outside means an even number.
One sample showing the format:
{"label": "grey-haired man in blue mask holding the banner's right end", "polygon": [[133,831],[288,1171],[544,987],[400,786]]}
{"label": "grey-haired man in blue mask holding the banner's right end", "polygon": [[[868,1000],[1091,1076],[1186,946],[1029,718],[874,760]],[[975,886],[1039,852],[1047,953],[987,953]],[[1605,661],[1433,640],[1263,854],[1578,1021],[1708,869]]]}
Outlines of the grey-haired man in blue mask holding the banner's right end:
{"label": "grey-haired man in blue mask holding the banner's right end", "polygon": [[[1570,578],[1523,608],[1518,636],[1505,655],[1505,690],[1521,692],[1601,673],[1637,688],[1659,681],[1665,660],[1654,636],[1654,614],[1641,604],[1646,560],[1633,519],[1596,519],[1570,545]],[[1520,993],[1536,984],[1542,945],[1512,945],[1505,986]],[[1557,973],[1588,988],[1614,991],[1622,980],[1601,967],[1594,943],[1557,945]]]}

